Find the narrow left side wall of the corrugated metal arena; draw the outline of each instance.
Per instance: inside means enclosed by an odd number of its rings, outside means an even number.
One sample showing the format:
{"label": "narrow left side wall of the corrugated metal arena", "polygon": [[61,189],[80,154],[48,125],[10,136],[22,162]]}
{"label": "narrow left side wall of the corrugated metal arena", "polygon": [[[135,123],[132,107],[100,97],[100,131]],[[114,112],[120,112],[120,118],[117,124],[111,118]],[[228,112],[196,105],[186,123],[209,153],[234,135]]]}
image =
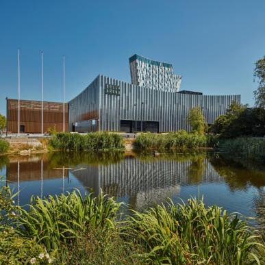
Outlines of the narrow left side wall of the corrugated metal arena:
{"label": "narrow left side wall of the corrugated metal arena", "polygon": [[[77,97],[69,101],[69,131],[80,121],[99,120],[99,76]],[[99,125],[97,124],[99,128]]]}

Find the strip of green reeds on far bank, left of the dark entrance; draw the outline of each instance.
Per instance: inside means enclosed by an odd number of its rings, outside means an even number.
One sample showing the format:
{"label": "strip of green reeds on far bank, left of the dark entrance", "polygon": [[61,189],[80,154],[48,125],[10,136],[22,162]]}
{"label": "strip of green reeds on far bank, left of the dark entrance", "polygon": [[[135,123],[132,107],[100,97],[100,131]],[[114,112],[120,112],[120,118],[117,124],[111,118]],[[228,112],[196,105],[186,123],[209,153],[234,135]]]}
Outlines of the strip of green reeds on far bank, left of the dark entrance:
{"label": "strip of green reeds on far bank, left of the dark entrance", "polygon": [[55,134],[49,142],[53,149],[62,151],[123,151],[123,137],[109,132],[89,134]]}

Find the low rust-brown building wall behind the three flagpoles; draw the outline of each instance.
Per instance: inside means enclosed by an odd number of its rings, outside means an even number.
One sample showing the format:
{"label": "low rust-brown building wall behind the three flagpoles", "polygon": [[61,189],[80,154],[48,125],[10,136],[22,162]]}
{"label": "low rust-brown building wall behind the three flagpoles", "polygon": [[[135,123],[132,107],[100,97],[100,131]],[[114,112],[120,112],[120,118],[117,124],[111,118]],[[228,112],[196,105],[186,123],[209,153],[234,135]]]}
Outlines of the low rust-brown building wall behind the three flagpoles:
{"label": "low rust-brown building wall behind the three flagpoles", "polygon": [[[41,101],[20,101],[20,124],[25,126],[25,133],[41,132]],[[65,103],[65,131],[68,131],[68,103]],[[18,132],[18,100],[7,99],[8,131]],[[43,131],[55,127],[63,131],[63,103],[43,102]]]}

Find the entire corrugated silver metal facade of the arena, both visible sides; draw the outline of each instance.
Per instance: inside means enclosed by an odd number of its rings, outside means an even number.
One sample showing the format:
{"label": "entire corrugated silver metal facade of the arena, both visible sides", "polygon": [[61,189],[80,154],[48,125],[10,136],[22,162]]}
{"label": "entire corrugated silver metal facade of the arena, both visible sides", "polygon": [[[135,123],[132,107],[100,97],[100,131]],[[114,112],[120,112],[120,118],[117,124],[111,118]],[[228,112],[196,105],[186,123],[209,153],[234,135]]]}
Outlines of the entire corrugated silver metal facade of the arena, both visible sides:
{"label": "entire corrugated silver metal facade of the arena, both visible sides", "polygon": [[[106,85],[116,85],[120,95],[105,93]],[[121,120],[157,121],[159,131],[190,130],[186,117],[201,106],[207,123],[225,114],[240,95],[206,96],[153,90],[99,75],[88,88],[69,102],[69,130],[79,121],[97,120],[99,131],[120,131]]]}

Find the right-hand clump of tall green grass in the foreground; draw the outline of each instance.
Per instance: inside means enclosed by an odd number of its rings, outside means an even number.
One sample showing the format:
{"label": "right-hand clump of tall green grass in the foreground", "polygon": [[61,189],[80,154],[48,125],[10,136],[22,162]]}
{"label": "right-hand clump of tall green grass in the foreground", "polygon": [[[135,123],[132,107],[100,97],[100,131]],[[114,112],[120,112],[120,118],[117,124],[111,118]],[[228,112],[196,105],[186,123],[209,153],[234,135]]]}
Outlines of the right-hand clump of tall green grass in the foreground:
{"label": "right-hand clump of tall green grass in the foreground", "polygon": [[[144,249],[150,264],[259,263],[258,236],[236,214],[203,200],[157,205],[127,217],[125,235]],[[263,246],[264,247],[264,246]]]}

